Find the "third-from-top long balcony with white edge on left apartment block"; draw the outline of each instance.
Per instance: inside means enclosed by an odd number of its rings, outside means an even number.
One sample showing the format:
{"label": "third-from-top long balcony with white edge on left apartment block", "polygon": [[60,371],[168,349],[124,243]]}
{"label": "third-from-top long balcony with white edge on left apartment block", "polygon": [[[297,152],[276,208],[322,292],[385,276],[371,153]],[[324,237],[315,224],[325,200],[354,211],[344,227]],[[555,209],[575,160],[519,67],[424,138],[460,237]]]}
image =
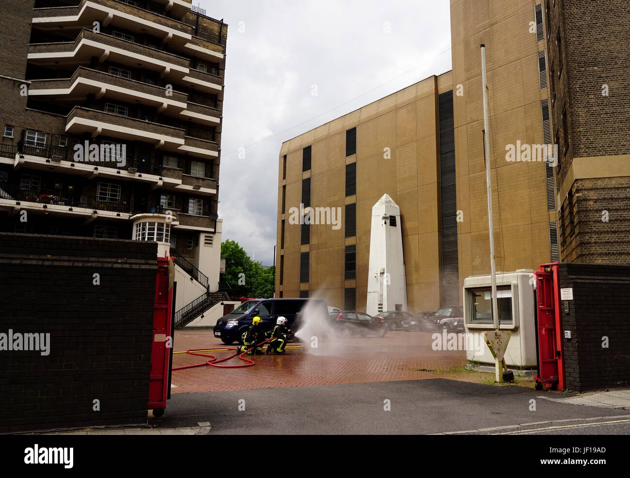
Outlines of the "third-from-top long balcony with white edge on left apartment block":
{"label": "third-from-top long balcony with white edge on left apartment block", "polygon": [[96,99],[105,96],[127,103],[139,100],[143,105],[154,106],[161,112],[176,116],[186,109],[188,95],[178,91],[172,93],[172,96],[166,96],[165,88],[86,67],[77,68],[69,79],[33,80],[28,89],[29,96],[55,97],[51,100],[86,98],[88,94],[94,94]]}

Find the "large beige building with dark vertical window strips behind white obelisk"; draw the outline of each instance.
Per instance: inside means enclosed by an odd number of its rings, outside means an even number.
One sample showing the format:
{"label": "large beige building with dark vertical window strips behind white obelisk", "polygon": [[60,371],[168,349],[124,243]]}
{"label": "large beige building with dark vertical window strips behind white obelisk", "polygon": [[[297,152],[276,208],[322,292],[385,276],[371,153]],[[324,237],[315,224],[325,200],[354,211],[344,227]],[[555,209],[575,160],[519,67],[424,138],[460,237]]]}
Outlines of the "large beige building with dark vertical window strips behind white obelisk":
{"label": "large beige building with dark vertical window strips behind white obelisk", "polygon": [[[558,260],[554,169],[506,159],[509,145],[552,142],[541,2],[452,0],[450,9],[452,71],[282,144],[277,297],[365,310],[370,214],[385,193],[401,210],[410,312],[461,304],[464,278],[490,272],[481,43],[497,270]],[[341,221],[301,224],[292,214],[301,203],[339,208]],[[311,212],[315,223],[322,216]]]}

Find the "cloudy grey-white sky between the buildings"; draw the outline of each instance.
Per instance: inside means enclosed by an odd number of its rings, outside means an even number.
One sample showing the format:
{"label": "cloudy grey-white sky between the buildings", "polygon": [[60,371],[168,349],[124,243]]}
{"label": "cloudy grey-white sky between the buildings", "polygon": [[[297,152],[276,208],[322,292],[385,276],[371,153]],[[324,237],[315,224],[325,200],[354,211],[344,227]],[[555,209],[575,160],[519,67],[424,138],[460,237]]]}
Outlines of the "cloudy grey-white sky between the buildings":
{"label": "cloudy grey-white sky between the buildings", "polygon": [[449,71],[449,1],[193,4],[229,25],[219,194],[223,239],[238,241],[249,256],[272,265],[282,142]]}

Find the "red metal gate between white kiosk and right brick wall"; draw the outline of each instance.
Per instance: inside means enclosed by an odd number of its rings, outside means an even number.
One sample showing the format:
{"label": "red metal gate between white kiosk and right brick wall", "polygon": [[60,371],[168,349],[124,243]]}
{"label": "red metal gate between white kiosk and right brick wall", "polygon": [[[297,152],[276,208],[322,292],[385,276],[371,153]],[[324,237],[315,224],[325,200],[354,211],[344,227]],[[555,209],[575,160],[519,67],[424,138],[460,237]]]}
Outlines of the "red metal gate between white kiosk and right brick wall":
{"label": "red metal gate between white kiosk and right brick wall", "polygon": [[564,354],[558,263],[536,271],[538,375],[536,388],[564,389]]}

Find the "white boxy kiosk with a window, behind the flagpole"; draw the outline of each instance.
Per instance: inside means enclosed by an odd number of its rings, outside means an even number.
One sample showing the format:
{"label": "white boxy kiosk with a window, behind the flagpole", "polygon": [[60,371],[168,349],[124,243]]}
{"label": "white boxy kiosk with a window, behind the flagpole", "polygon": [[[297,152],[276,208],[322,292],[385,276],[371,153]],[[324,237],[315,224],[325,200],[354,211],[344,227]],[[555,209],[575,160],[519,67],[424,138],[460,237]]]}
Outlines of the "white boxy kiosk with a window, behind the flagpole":
{"label": "white boxy kiosk with a window, behind the flagpole", "polygon": [[[512,331],[512,338],[505,351],[505,363],[512,368],[536,368],[536,322],[534,319],[536,299],[534,297],[532,270],[496,273],[496,297],[499,310],[499,328]],[[491,315],[490,275],[471,276],[464,279],[464,326],[469,334],[483,334],[493,330]],[[484,343],[482,337],[474,337],[474,343]],[[484,365],[495,365],[488,346],[483,353],[475,355],[466,351],[469,361]]]}

